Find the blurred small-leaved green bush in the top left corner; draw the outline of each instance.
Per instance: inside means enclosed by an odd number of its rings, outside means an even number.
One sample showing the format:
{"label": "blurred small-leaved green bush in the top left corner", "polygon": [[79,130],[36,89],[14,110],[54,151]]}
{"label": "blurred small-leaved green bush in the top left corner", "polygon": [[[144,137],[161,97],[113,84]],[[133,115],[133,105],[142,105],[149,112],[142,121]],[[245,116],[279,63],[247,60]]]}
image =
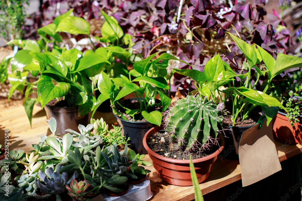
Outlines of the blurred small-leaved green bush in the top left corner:
{"label": "blurred small-leaved green bush in the top left corner", "polygon": [[25,5],[29,5],[27,0],[0,1],[0,37],[4,40],[22,38],[26,17]]}

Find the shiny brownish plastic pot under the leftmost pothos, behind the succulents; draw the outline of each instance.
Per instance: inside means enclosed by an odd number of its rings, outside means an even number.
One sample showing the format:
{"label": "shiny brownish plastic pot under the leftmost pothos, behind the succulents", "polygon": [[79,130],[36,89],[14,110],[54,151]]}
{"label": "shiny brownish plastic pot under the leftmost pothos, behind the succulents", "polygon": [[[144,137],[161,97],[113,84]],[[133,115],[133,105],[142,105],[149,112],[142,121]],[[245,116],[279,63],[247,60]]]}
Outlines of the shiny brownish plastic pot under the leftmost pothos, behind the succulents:
{"label": "shiny brownish plastic pot under the leftmost pothos, behind the succulents", "polygon": [[78,116],[78,105],[70,107],[56,107],[45,105],[44,108],[47,119],[50,119],[51,117],[56,119],[58,128],[56,134],[65,134],[67,133],[65,131],[66,129],[72,129],[79,132],[79,124],[87,126],[87,124],[89,124],[90,122],[91,113],[83,116]]}

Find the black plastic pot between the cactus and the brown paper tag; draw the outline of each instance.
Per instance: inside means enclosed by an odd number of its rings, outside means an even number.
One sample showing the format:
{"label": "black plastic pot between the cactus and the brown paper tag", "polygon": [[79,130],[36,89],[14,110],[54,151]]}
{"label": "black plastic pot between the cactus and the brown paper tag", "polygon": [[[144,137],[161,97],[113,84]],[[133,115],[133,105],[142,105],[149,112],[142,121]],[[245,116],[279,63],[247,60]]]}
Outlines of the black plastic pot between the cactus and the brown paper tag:
{"label": "black plastic pot between the cactus and the brown paper tag", "polygon": [[238,149],[239,149],[239,142],[242,137],[242,133],[249,128],[253,127],[252,126],[223,126],[225,136],[225,145],[224,149],[220,153],[221,158],[229,159],[229,160],[239,160],[239,154],[238,154]]}

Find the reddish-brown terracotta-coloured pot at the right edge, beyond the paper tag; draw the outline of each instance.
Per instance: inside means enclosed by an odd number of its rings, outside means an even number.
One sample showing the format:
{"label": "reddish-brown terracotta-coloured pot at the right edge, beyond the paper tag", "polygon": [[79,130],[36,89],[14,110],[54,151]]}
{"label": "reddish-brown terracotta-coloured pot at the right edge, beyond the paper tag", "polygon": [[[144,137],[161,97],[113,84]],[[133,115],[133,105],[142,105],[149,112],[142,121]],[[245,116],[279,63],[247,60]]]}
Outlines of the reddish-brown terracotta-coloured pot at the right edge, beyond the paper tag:
{"label": "reddish-brown terracotta-coloured pot at the right edge, beyond the paper tag", "polygon": [[273,119],[273,134],[276,140],[285,144],[302,144],[302,116],[298,119],[300,122],[291,122],[285,116],[286,114],[278,111],[276,117]]}

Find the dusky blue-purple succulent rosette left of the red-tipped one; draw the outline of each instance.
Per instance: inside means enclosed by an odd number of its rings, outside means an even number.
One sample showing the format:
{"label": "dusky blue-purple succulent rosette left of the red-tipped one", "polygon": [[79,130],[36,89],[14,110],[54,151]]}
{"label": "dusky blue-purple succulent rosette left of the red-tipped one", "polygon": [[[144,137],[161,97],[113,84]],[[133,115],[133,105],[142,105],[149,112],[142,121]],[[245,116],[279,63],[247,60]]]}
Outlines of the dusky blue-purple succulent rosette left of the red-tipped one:
{"label": "dusky blue-purple succulent rosette left of the red-tipped one", "polygon": [[65,186],[70,184],[72,179],[75,179],[78,176],[77,172],[75,172],[68,179],[67,172],[63,172],[62,174],[59,173],[62,167],[63,165],[58,164],[56,165],[55,171],[53,171],[53,168],[47,168],[45,171],[39,172],[38,176],[40,180],[36,178],[35,185],[40,188],[40,192],[44,195],[39,195],[34,192],[36,198],[45,199],[55,194],[56,199],[61,200],[59,194],[63,193],[66,190]]}

